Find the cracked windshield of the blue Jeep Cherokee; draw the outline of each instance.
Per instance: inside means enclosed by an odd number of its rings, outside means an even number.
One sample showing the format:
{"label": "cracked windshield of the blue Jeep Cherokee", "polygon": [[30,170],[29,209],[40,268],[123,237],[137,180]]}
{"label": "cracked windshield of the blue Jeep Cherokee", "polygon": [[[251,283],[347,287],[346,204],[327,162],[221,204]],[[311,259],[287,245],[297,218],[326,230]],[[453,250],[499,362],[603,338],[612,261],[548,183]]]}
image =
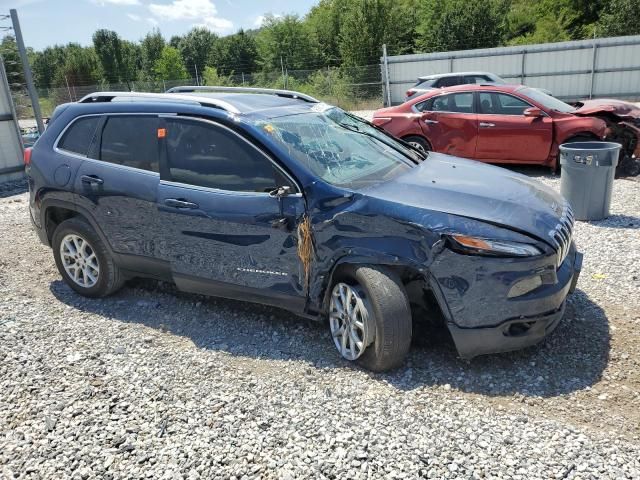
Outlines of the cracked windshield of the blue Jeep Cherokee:
{"label": "cracked windshield of the blue Jeep Cherokee", "polygon": [[257,126],[314,174],[341,187],[384,182],[422,160],[417,152],[339,108],[271,118]]}

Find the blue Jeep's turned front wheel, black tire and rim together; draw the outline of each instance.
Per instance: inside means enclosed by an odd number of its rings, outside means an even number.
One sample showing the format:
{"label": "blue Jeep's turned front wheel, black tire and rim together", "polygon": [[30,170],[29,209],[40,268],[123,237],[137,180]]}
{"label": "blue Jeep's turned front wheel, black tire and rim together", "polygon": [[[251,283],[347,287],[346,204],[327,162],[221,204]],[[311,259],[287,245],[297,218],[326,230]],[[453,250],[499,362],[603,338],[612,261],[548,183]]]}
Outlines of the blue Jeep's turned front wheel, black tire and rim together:
{"label": "blue Jeep's turned front wheel, black tire and rim together", "polygon": [[374,372],[399,367],[411,345],[412,320],[400,280],[377,267],[355,267],[329,299],[329,326],[340,355]]}

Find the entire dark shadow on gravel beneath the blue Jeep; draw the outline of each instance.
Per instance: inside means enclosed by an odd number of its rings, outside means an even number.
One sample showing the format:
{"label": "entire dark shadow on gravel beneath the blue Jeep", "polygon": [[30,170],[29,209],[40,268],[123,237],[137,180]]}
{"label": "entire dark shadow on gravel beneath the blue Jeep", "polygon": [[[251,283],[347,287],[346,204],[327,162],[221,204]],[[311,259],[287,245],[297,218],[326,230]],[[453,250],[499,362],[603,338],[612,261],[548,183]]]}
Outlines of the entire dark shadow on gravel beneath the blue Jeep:
{"label": "entire dark shadow on gravel beneath the blue Jeep", "polygon": [[[81,297],[60,280],[52,282],[50,290],[78,310],[186,337],[201,349],[301,361],[321,370],[360,370],[341,359],[326,325],[278,308],[182,293],[173,285],[150,280],[131,281],[105,299]],[[458,358],[444,327],[416,325],[414,338],[400,369],[362,372],[402,391],[442,386],[490,396],[552,397],[597,383],[610,348],[606,314],[581,290],[570,296],[556,331],[525,350],[467,362]]]}

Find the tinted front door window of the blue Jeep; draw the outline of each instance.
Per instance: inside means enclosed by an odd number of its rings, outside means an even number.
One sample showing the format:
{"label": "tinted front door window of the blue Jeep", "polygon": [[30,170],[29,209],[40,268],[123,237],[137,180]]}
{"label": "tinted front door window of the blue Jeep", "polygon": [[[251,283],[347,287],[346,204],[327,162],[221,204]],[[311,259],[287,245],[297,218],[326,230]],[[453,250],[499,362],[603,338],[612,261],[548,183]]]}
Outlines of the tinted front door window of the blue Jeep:
{"label": "tinted front door window of the blue Jeep", "polygon": [[270,192],[282,174],[259,150],[221,126],[167,119],[169,180],[235,192]]}

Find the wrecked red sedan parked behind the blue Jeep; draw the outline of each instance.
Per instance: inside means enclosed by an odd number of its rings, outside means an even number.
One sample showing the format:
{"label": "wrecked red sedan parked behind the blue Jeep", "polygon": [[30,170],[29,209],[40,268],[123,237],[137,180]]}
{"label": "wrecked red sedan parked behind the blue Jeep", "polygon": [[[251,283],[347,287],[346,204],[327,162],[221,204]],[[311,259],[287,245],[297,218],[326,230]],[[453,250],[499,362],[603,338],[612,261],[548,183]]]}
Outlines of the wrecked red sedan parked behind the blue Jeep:
{"label": "wrecked red sedan parked behind the blue Jeep", "polygon": [[[602,140],[613,131],[614,112],[599,118],[602,111],[585,107],[521,85],[460,85],[377,110],[373,123],[424,150],[556,169],[558,145]],[[640,148],[639,137],[640,131],[623,145],[623,153],[630,150],[624,154]]]}

